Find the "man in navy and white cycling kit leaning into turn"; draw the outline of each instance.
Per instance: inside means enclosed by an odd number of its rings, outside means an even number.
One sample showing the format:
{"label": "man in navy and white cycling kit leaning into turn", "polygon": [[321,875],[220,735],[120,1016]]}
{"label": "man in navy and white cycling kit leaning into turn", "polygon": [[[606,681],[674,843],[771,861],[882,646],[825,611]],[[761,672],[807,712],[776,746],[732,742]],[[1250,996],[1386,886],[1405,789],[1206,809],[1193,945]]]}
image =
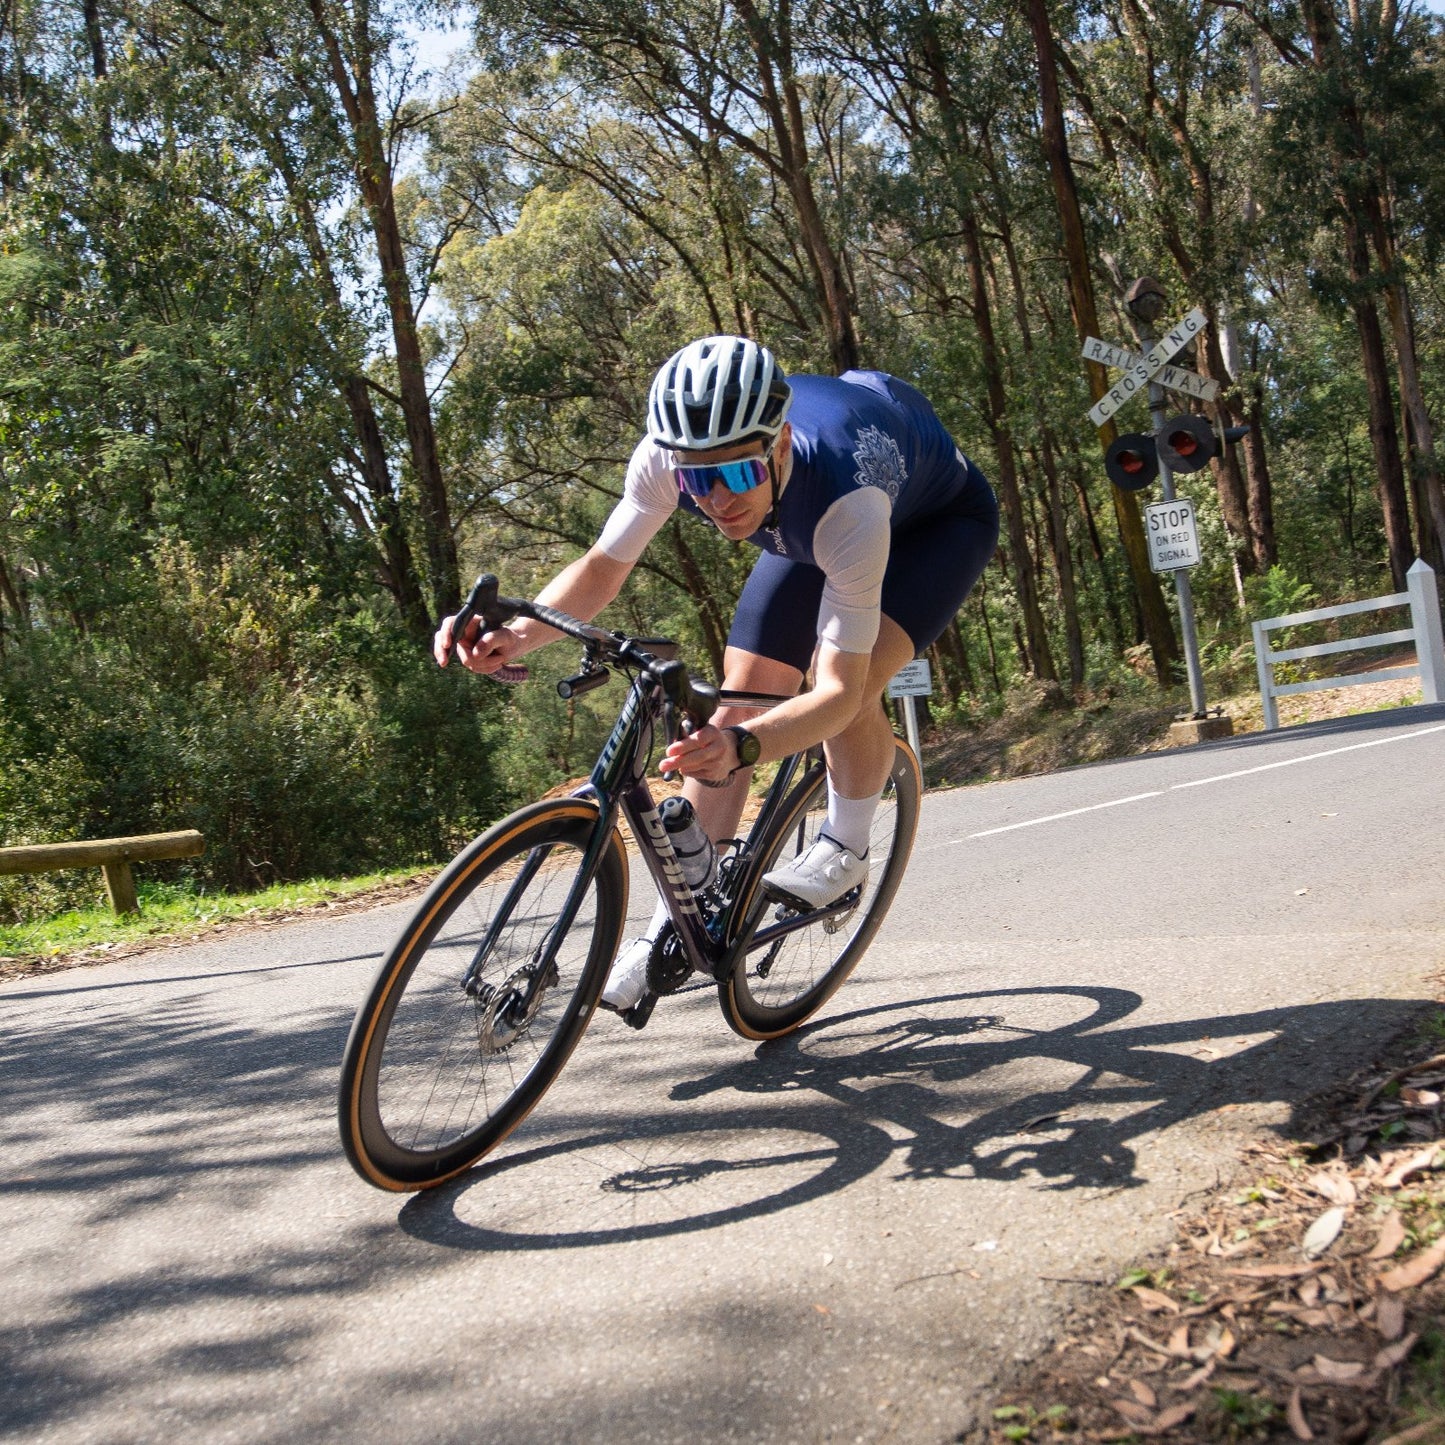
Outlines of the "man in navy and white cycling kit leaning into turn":
{"label": "man in navy and white cycling kit leaning into turn", "polygon": [[[657,371],[647,435],[597,543],[538,600],[592,618],[621,590],[676,507],[762,549],[724,656],[727,689],[786,696],[744,722],[720,708],[662,760],[712,838],[737,829],[754,763],[816,743],[828,762],[828,818],[779,893],[822,907],[867,877],[868,829],[893,759],[881,695],[889,678],[944,631],[998,539],[998,506],[933,407],[883,371],[788,379],[746,337],[704,337]],[[447,660],[455,618],[435,655]],[[530,620],[457,639],[473,672],[494,673],[558,634]],[[480,636],[478,636],[480,633]],[[814,686],[798,689],[812,668]],[[603,1001],[630,1009],[668,922],[659,900],[623,948]]]}

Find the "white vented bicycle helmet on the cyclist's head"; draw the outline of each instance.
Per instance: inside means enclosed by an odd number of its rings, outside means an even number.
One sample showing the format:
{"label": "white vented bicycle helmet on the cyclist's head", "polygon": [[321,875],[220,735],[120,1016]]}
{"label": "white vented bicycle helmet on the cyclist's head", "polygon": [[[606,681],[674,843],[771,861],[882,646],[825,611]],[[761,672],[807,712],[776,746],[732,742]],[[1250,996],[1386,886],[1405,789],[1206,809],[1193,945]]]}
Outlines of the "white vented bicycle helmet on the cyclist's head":
{"label": "white vented bicycle helmet on the cyclist's head", "polygon": [[663,363],[647,396],[652,439],[711,451],[782,429],[793,392],[773,353],[747,337],[704,337]]}

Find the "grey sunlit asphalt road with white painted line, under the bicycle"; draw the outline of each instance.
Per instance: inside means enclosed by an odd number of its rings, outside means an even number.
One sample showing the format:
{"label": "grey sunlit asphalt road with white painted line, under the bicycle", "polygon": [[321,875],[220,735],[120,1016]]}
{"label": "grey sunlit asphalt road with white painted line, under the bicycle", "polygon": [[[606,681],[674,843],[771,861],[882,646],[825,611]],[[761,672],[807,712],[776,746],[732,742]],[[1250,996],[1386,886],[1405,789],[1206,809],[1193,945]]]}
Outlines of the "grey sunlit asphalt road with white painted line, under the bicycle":
{"label": "grey sunlit asphalt road with white painted line, under the bicycle", "polygon": [[396,909],[6,985],[0,1432],[951,1439],[1435,996],[1442,775],[1409,708],[935,793],[805,1032],[600,1016],[410,1199],[334,1123]]}

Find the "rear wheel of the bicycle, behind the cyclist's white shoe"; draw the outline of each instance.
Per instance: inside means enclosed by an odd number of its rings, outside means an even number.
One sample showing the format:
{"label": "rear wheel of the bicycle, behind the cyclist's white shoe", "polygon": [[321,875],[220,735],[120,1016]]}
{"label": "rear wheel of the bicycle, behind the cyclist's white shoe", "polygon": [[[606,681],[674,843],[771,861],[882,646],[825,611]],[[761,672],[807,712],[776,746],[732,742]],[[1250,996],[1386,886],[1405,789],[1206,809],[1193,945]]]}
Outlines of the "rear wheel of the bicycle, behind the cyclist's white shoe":
{"label": "rear wheel of the bicycle, behind the cyclist's white shoe", "polygon": [[913,851],[923,790],[913,750],[902,738],[893,741],[893,767],[868,837],[868,881],[851,906],[783,932],[802,915],[762,890],[764,873],[806,853],[822,831],[828,816],[825,776],[803,785],[762,840],[734,915],[749,926],[756,918],[757,928],[737,929],[749,942],[718,990],[722,1016],[743,1038],[776,1039],[796,1029],[853,972],[883,923]]}

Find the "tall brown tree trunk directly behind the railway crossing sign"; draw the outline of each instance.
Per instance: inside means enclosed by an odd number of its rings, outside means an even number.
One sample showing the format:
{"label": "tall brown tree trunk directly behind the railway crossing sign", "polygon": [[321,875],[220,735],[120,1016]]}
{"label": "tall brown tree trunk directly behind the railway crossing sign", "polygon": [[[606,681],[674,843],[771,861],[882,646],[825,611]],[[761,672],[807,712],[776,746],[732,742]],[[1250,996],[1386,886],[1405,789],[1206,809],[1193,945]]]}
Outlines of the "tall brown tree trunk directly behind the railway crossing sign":
{"label": "tall brown tree trunk directly behind the railway crossing sign", "polygon": [[[1038,58],[1039,101],[1043,117],[1043,149],[1049,162],[1049,178],[1053,184],[1053,199],[1059,214],[1064,236],[1064,256],[1069,273],[1069,306],[1074,327],[1082,345],[1084,338],[1098,335],[1098,312],[1094,305],[1094,280],[1088,269],[1084,243],[1084,217],[1079,211],[1078,186],[1074,181],[1074,165],[1069,160],[1068,136],[1064,129],[1064,105],[1059,100],[1058,66],[1053,58],[1053,30],[1049,25],[1048,0],[1027,0],[1029,27]],[[1108,377],[1097,361],[1087,363],[1090,393],[1097,402],[1108,390]],[[1108,447],[1114,439],[1113,422],[1100,428],[1100,439]],[[1118,533],[1129,558],[1129,571],[1134,581],[1134,594],[1143,618],[1144,636],[1153,653],[1155,672],[1163,685],[1173,683],[1175,665],[1179,662],[1179,642],[1175,637],[1173,621],[1165,605],[1163,588],[1149,566],[1149,543],[1144,540],[1144,525],[1139,513],[1139,501],[1130,491],[1110,487],[1114,496],[1114,516]]]}

